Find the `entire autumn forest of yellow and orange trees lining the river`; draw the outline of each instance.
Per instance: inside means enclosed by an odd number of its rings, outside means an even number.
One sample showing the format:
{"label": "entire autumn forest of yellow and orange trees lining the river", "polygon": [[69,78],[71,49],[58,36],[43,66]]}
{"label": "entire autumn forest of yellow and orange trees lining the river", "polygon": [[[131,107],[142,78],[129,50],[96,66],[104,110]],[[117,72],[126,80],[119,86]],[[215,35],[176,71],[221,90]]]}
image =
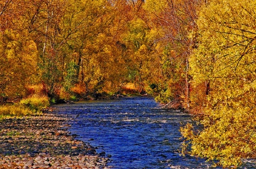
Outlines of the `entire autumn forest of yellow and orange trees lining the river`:
{"label": "entire autumn forest of yellow and orange trees lining the river", "polygon": [[256,1],[0,0],[0,23],[0,116],[133,84],[193,115],[183,154],[256,158]]}

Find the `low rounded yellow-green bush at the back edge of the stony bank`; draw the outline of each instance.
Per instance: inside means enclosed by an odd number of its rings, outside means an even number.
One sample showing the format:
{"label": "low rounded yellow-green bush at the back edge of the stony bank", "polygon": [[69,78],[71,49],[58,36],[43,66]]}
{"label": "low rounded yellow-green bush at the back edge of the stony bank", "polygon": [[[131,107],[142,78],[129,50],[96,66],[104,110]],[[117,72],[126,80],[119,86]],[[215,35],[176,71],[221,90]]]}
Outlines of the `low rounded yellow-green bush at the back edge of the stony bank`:
{"label": "low rounded yellow-green bush at the back edge of the stony bank", "polygon": [[38,112],[49,106],[49,100],[47,96],[32,95],[29,98],[20,100],[20,104]]}

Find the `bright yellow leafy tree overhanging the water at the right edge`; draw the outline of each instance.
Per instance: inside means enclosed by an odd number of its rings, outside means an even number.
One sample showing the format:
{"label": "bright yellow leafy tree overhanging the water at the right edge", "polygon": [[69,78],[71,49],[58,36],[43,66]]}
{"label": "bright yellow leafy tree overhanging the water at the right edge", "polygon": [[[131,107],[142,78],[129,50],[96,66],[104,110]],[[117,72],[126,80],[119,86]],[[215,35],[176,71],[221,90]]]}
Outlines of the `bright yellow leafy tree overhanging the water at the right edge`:
{"label": "bright yellow leafy tree overhanging the water at the right edge", "polygon": [[181,132],[191,154],[238,166],[256,157],[255,1],[210,1],[200,11],[199,43],[190,58],[193,87],[207,83],[196,130]]}

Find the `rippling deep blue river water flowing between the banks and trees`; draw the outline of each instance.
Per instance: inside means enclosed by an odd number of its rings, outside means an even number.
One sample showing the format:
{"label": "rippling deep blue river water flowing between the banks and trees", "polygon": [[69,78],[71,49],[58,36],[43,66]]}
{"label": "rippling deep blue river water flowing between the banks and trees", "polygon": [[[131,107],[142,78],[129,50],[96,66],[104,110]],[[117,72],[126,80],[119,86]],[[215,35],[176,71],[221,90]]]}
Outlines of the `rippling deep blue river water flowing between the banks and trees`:
{"label": "rippling deep blue river water flowing between the banks and trees", "polygon": [[82,101],[56,105],[56,111],[73,117],[72,134],[111,155],[113,168],[208,168],[203,159],[179,154],[181,122],[187,113],[159,107],[148,97]]}

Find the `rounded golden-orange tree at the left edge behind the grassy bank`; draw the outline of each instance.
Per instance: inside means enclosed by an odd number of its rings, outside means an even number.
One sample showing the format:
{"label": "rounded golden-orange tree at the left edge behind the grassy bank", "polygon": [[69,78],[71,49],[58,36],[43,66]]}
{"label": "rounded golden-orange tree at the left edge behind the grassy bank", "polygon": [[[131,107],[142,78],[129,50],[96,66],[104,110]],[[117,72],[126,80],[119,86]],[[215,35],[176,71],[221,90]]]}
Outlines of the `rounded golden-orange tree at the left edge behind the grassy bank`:
{"label": "rounded golden-orange tree at the left edge behind the grassy bank", "polygon": [[26,94],[35,80],[38,50],[25,32],[6,29],[0,34],[0,97],[15,99]]}

